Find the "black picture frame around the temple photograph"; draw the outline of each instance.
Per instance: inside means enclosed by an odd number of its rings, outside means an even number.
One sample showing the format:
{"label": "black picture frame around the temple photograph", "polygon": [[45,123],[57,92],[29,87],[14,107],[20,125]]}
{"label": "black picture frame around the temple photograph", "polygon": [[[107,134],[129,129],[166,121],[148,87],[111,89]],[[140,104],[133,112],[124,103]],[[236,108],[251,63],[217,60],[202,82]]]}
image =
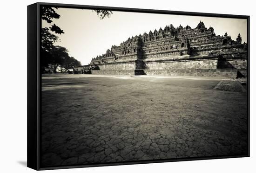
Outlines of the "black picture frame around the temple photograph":
{"label": "black picture frame around the temple photograph", "polygon": [[[193,157],[180,159],[165,159],[165,160],[146,160],[146,161],[125,161],[90,165],[73,165],[59,167],[41,167],[40,166],[40,114],[41,114],[41,72],[40,72],[40,6],[57,6],[65,8],[84,8],[84,9],[101,9],[122,12],[138,12],[138,13],[160,13],[160,14],[176,14],[188,16],[205,16],[205,17],[221,17],[221,18],[237,18],[247,19],[247,43],[248,43],[248,61],[247,61],[247,112],[248,112],[248,154],[232,155],[232,156],[207,156]],[[167,10],[149,10],[136,8],[121,8],[108,6],[86,6],[74,4],[56,4],[56,3],[34,3],[27,6],[27,167],[35,170],[48,169],[63,169],[63,168],[79,168],[79,167],[101,167],[101,166],[116,166],[116,165],[131,165],[145,164],[158,162],[172,161],[187,161],[187,160],[208,160],[208,159],[223,159],[236,157],[249,157],[249,84],[250,84],[250,34],[249,34],[250,17],[246,15],[231,15],[231,14],[215,14],[215,13],[195,13],[195,12],[179,12]]]}

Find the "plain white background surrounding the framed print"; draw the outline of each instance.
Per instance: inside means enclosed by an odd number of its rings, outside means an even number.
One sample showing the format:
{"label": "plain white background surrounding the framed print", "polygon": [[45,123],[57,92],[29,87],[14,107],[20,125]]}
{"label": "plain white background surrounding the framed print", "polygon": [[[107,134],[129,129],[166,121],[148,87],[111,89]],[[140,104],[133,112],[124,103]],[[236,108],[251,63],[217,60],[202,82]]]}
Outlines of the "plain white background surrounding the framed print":
{"label": "plain white background surrounding the framed print", "polygon": [[[243,173],[256,170],[255,96],[256,13],[252,0],[41,0],[43,2],[250,15],[250,158],[199,160],[115,167],[54,170],[87,173]],[[27,168],[27,5],[35,0],[5,0],[0,6],[0,172]]]}

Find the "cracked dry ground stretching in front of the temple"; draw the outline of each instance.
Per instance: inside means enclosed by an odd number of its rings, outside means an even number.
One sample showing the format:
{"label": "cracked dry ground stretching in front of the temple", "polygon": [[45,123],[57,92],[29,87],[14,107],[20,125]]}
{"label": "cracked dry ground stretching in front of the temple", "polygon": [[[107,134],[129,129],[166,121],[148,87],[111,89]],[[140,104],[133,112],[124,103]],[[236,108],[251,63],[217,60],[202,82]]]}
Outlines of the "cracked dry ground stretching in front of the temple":
{"label": "cracked dry ground stretching in front of the temple", "polygon": [[220,80],[52,76],[43,167],[247,154],[246,93],[213,90]]}

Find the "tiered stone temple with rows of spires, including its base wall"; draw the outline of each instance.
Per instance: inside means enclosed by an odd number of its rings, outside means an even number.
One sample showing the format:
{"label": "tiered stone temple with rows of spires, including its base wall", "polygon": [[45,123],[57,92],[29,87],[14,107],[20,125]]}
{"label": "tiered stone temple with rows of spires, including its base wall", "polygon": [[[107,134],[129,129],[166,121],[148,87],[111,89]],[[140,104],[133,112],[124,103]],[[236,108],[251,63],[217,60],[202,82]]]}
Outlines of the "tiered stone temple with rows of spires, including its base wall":
{"label": "tiered stone temple with rows of spires, including its base wall", "polygon": [[235,78],[247,76],[247,58],[240,34],[236,40],[216,35],[200,21],[193,29],[170,25],[128,38],[89,65],[92,74]]}

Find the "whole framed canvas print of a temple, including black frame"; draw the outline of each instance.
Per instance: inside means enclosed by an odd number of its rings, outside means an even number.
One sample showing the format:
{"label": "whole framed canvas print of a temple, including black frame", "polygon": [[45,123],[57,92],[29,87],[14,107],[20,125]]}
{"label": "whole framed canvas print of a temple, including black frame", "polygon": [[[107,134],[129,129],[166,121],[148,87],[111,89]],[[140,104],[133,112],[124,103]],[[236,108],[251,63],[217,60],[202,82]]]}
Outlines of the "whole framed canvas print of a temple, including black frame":
{"label": "whole framed canvas print of a temple, including black frame", "polygon": [[249,16],[27,6],[27,166],[249,156]]}

